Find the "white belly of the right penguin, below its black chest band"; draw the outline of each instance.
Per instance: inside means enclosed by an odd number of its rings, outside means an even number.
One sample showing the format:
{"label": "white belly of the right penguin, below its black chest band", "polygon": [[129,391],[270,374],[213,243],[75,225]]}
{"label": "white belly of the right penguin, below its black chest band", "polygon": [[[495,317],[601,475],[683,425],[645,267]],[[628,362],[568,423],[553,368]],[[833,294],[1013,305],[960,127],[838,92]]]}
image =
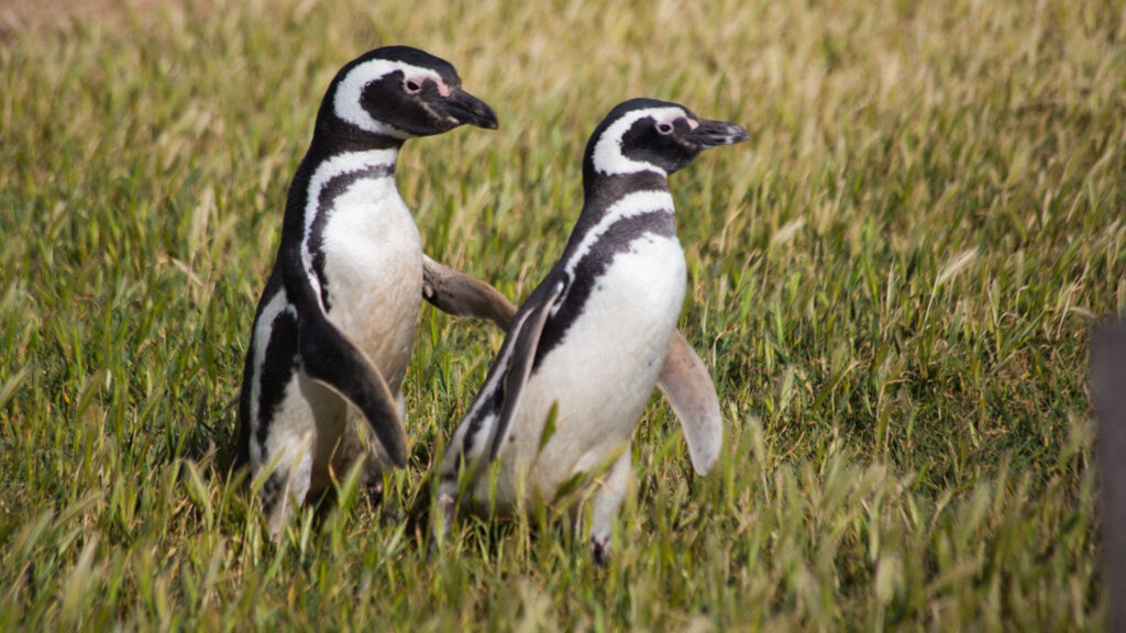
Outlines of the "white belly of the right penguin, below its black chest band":
{"label": "white belly of the right penguin, below its black chest band", "polygon": [[[650,235],[614,259],[582,315],[524,387],[515,438],[500,454],[501,505],[512,502],[520,485],[526,496],[536,490],[549,500],[572,476],[608,465],[625,447],[656,384],[686,284],[676,239]],[[540,451],[555,401],[555,433]],[[477,491],[479,499],[486,494]]]}

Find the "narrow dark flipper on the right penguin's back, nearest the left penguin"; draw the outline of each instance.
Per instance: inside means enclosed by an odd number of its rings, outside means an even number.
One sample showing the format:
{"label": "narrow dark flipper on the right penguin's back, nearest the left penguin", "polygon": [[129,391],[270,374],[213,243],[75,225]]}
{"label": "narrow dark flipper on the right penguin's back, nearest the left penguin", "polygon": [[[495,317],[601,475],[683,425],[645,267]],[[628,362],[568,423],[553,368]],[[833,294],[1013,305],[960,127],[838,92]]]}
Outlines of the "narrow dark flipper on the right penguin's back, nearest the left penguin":
{"label": "narrow dark flipper on the right penguin's back, nearest the left penguin", "polygon": [[536,350],[539,349],[539,336],[544,332],[544,323],[547,322],[552,307],[563,295],[565,287],[566,284],[561,280],[543,298],[533,294],[526,304],[530,305],[530,309],[517,315],[512,329],[508,332],[508,338],[504,340],[504,347],[508,349],[501,351],[502,357],[506,354],[509,357],[508,371],[503,377],[504,401],[493,430],[492,445],[489,449],[490,462],[497,458],[500,447],[504,444],[512,416],[516,414],[520,403],[520,391],[531,375],[531,365],[536,359]]}

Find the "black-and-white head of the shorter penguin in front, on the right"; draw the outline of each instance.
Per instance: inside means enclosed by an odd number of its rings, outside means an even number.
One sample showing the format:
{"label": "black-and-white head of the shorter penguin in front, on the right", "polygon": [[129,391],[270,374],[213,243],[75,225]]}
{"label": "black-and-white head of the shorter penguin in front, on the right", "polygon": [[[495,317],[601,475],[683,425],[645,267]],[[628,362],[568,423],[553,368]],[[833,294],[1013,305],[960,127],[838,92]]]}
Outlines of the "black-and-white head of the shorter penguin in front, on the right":
{"label": "black-and-white head of the shorter penguin in front, on the right", "polygon": [[650,171],[667,176],[691,164],[708,148],[748,137],[742,126],[699,118],[679,104],[631,99],[618,104],[595,128],[587,144],[583,172]]}

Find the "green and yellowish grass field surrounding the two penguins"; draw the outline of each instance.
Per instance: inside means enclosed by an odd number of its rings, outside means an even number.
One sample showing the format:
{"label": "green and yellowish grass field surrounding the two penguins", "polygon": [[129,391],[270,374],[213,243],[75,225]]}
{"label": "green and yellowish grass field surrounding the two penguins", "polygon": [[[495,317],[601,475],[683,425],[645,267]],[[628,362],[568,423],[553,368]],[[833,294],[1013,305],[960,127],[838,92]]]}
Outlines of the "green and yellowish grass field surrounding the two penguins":
{"label": "green and yellowish grass field surrounding the two penguins", "polygon": [[[1084,372],[1126,309],[1120,3],[144,7],[0,41],[2,627],[1101,627]],[[495,106],[399,185],[429,252],[516,297],[614,104],[752,133],[672,179],[722,463],[695,478],[654,399],[605,570],[522,520],[428,560],[347,482],[275,546],[224,478],[288,178],[337,68],[387,43]],[[419,332],[400,500],[500,341],[429,309]]]}

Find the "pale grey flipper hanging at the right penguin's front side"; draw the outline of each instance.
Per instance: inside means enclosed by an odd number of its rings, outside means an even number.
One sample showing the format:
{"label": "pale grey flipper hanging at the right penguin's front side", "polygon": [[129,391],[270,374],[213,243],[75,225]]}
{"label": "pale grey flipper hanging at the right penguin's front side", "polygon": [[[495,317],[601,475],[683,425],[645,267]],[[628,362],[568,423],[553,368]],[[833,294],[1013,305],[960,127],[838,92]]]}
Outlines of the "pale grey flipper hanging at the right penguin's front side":
{"label": "pale grey flipper hanging at the right penguin's front side", "polygon": [[656,386],[680,420],[692,469],[697,474],[706,475],[723,447],[720,398],[707,367],[680,330],[673,331],[669,339],[669,351]]}

